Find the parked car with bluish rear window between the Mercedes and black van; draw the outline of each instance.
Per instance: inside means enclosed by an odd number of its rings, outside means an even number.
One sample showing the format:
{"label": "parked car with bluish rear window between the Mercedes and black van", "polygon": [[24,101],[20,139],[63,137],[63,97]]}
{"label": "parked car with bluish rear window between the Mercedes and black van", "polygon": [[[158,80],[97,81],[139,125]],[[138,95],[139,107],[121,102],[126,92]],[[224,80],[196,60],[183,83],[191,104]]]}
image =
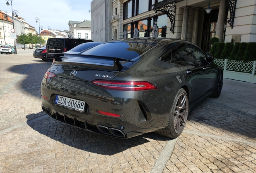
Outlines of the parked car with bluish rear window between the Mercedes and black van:
{"label": "parked car with bluish rear window between the Mercedes and black van", "polygon": [[81,54],[90,48],[102,44],[102,42],[86,42],[79,44],[78,46],[70,49],[67,52],[63,53],[49,53],[50,55],[54,56],[54,60],[52,61],[52,66],[56,63],[56,61],[62,61],[69,57],[76,56],[76,54]]}

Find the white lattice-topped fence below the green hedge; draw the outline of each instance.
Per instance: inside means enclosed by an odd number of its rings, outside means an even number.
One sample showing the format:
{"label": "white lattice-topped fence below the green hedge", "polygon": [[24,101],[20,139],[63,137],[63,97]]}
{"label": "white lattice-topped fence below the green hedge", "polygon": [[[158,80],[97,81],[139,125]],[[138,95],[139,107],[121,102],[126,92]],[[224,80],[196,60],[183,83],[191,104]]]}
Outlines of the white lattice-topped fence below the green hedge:
{"label": "white lattice-topped fence below the green hedge", "polygon": [[224,69],[224,78],[256,83],[256,61],[214,59],[214,62]]}

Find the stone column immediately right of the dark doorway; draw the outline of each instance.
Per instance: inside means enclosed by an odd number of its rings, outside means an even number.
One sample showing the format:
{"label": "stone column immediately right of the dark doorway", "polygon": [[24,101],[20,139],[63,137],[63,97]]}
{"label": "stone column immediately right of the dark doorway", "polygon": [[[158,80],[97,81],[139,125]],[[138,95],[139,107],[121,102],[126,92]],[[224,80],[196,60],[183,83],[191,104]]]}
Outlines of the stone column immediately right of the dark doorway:
{"label": "stone column immediately right of the dark doorway", "polygon": [[217,21],[216,37],[219,37],[219,42],[223,42],[224,25],[226,14],[226,0],[221,0],[219,4],[219,14]]}

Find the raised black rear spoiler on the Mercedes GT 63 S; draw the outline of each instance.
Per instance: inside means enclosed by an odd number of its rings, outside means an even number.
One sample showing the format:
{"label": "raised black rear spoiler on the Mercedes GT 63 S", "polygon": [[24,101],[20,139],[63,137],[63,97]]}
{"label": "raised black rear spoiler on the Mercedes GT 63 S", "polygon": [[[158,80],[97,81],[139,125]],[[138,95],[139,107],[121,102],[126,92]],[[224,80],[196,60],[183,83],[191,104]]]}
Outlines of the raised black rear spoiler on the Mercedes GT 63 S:
{"label": "raised black rear spoiler on the Mercedes GT 63 S", "polygon": [[81,63],[81,64],[79,64],[79,66],[87,66],[90,68],[103,68],[103,69],[109,69],[109,70],[121,70],[123,68],[123,66],[120,63],[120,61],[134,62],[134,61],[128,60],[128,59],[116,58],[116,57],[110,57],[110,56],[96,56],[96,55],[83,55],[83,54],[68,54],[68,55],[71,55],[71,56],[74,55],[72,57],[93,58],[93,59],[99,59],[99,60],[100,59],[105,59],[105,60],[112,59],[114,63],[112,65],[112,64],[105,64],[105,63],[101,63],[101,62],[86,62],[86,61],[70,62],[68,60],[62,61],[61,56],[63,56],[63,53],[58,53],[58,54],[55,53],[54,59],[56,61],[56,64],[69,64],[69,65],[77,66],[78,63]]}

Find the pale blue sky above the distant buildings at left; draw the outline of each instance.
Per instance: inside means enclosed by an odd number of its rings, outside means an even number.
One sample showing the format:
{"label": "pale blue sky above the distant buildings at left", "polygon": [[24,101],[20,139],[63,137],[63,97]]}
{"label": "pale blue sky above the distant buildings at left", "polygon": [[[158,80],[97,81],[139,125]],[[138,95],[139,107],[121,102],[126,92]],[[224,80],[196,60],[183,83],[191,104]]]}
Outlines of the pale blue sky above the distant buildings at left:
{"label": "pale blue sky above the distant buildings at left", "polygon": [[0,1],[0,10],[11,12],[17,10],[18,16],[25,18],[25,22],[39,30],[39,23],[35,18],[39,18],[40,26],[43,29],[69,30],[68,21],[91,20],[92,0],[6,0]]}

